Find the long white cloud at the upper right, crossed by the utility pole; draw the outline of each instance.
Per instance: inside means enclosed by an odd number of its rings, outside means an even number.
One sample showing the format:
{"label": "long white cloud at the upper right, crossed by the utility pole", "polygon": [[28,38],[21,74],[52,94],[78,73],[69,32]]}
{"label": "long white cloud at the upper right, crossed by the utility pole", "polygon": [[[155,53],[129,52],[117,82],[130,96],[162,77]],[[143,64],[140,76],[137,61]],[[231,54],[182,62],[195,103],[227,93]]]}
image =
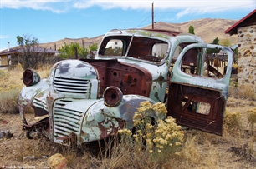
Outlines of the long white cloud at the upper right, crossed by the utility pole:
{"label": "long white cloud at the upper right, crossed by the utility pole", "polygon": [[237,6],[243,7],[244,4],[255,4],[254,0],[78,0],[74,2],[76,8],[88,8],[99,6],[105,9],[151,9],[152,2],[158,9],[187,9],[207,10],[207,8],[228,8]]}

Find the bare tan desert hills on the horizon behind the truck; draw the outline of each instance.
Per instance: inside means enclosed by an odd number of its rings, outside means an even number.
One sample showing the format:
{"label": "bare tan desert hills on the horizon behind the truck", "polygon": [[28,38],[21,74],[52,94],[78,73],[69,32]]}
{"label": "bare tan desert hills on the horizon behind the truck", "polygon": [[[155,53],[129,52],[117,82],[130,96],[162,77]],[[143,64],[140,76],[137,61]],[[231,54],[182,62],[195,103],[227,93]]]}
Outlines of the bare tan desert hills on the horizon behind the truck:
{"label": "bare tan desert hills on the horizon behind the truck", "polygon": [[[194,32],[198,37],[201,37],[204,42],[211,43],[213,39],[218,37],[218,39],[223,40],[228,38],[229,41],[233,44],[237,42],[237,36],[233,35],[230,37],[228,34],[225,34],[224,31],[231,27],[236,20],[228,20],[228,19],[211,19],[211,18],[203,18],[198,20],[192,20],[189,22],[182,22],[182,23],[167,23],[167,22],[156,22],[154,25],[155,29],[166,29],[178,32],[188,32],[188,27],[192,25],[194,27]],[[115,27],[113,27],[115,28]],[[142,28],[151,28],[151,25]],[[98,37],[82,37],[82,38],[64,38],[59,41],[49,42],[49,43],[42,43],[43,47],[48,47],[51,49],[58,49],[64,43],[70,44],[72,42],[78,42],[79,45],[82,47],[89,47],[96,42],[100,44],[103,35]],[[83,44],[84,43],[84,44]]]}

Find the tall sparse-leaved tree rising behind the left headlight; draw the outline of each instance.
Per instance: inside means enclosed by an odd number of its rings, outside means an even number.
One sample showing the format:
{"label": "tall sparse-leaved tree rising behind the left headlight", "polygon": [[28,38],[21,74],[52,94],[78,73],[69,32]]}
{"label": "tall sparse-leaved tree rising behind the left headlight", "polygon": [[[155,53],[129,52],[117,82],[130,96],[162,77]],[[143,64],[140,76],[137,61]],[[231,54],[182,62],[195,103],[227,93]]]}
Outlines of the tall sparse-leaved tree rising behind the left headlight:
{"label": "tall sparse-leaved tree rising behind the left headlight", "polygon": [[38,38],[30,35],[17,36],[19,62],[23,69],[37,69],[44,59],[45,48],[38,47]]}

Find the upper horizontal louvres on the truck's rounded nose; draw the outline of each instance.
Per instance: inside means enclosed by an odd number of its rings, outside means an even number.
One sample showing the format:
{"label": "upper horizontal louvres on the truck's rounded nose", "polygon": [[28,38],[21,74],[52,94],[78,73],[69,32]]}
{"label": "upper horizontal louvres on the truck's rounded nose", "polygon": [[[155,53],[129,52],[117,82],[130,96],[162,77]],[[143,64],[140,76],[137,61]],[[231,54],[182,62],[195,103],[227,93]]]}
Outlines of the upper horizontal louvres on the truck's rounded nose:
{"label": "upper horizontal louvres on the truck's rounded nose", "polygon": [[88,94],[90,80],[65,77],[54,77],[54,88],[58,92]]}

